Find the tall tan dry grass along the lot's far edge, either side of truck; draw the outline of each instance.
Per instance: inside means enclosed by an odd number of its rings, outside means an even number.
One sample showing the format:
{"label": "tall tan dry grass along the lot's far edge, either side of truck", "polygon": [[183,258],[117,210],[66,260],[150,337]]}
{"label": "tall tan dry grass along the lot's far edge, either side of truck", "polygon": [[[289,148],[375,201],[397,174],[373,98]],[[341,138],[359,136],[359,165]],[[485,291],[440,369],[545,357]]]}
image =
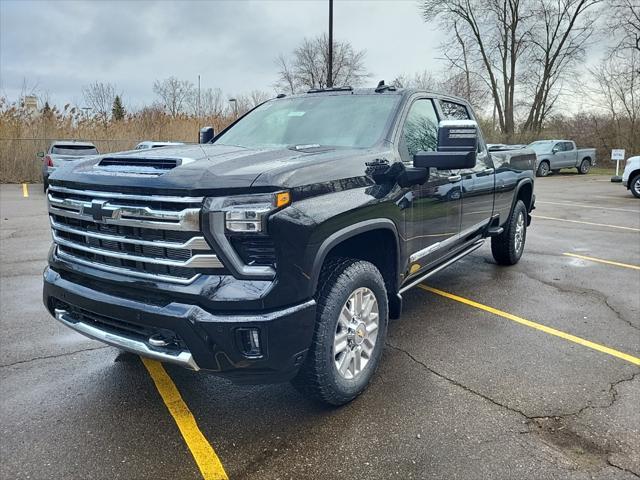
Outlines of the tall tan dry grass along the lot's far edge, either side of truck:
{"label": "tall tan dry grass along the lot's far edge, either side of truck", "polygon": [[[59,112],[28,114],[23,108],[9,104],[0,97],[0,183],[40,182],[42,159],[37,153],[45,151],[52,140],[76,139],[92,141],[100,152],[111,153],[133,148],[142,140],[197,142],[198,131],[212,125],[216,132],[231,122],[230,117],[195,118],[171,117],[157,108],[145,108],[121,121],[103,122],[85,118],[82,112],[67,107]],[[539,138],[569,138],[579,146],[595,147],[597,164],[610,165],[612,148],[626,148],[627,156],[640,151],[638,125],[619,125],[611,119],[576,114],[557,117],[548,122],[539,135],[519,134],[503,138],[491,129],[487,120],[481,121],[488,141],[493,143],[528,143]],[[624,133],[624,135],[623,135]]]}

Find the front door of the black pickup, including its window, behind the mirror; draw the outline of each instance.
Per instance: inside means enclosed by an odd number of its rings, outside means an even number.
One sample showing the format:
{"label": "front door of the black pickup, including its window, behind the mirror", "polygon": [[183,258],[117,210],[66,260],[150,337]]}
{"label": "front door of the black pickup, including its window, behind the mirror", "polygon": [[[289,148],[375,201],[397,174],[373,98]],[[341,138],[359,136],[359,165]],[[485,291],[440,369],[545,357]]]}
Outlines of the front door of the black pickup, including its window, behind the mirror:
{"label": "front door of the black pickup, including its window, behind the mirror", "polygon": [[[438,115],[433,100],[413,101],[405,118],[399,150],[406,165],[419,151],[435,151]],[[460,232],[462,181],[458,171],[431,169],[423,185],[415,185],[401,199],[405,210],[409,274],[433,264]]]}

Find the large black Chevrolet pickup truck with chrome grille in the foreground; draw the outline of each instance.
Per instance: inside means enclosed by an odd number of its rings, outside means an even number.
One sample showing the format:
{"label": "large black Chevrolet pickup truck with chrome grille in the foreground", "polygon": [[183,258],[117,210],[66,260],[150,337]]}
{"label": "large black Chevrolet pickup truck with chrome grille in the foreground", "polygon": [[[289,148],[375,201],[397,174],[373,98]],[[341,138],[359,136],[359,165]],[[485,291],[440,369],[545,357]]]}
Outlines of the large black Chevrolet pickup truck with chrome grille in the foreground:
{"label": "large black Chevrolet pickup truck with chrome grille in the foreground", "polygon": [[280,95],[201,136],[50,177],[43,296],[55,318],[339,405],[374,374],[403,292],[489,237],[498,264],[522,255],[535,154],[489,153],[459,98]]}

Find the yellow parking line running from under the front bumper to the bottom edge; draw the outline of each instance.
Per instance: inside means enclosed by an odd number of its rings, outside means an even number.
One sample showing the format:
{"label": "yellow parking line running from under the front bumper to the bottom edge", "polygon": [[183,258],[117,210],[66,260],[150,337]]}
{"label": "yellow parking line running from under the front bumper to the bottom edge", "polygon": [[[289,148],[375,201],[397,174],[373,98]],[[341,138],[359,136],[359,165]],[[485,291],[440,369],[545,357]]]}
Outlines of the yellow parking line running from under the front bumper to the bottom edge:
{"label": "yellow parking line running from under the front bumper to the bottom edge", "polygon": [[147,367],[158,393],[178,425],[204,480],[228,480],[218,455],[198,428],[196,419],[162,364],[147,358],[142,358],[142,363]]}

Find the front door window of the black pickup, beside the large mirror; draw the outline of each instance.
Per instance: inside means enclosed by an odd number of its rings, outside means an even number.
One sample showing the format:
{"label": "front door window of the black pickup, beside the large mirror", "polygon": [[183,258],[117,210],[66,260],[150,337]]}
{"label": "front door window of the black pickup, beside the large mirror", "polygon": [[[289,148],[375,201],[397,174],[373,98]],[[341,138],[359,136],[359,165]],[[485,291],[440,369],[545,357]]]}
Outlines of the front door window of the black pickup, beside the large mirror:
{"label": "front door window of the black pickup, beside the large mirror", "polygon": [[402,127],[400,139],[402,160],[410,162],[420,152],[433,152],[438,147],[438,116],[433,102],[426,98],[416,100]]}

